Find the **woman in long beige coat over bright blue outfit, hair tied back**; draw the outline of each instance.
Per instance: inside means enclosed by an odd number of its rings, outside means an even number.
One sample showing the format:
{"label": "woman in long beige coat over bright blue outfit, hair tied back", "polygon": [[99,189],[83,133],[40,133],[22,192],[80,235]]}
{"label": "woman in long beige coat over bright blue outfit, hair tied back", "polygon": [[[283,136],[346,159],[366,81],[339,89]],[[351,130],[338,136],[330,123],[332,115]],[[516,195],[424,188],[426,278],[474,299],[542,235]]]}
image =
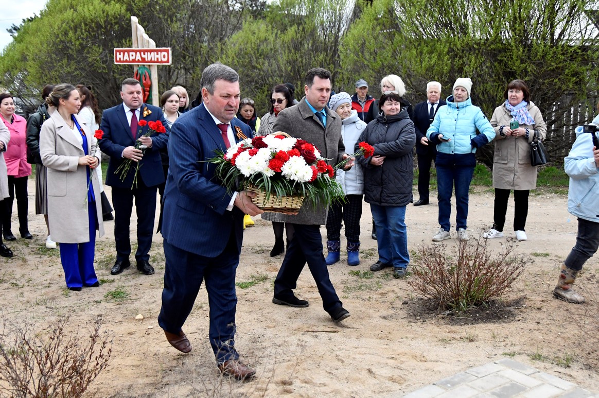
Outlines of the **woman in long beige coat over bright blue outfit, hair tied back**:
{"label": "woman in long beige coat over bright blue outfit, hair tied back", "polygon": [[60,243],[60,261],[69,290],[99,286],[93,269],[96,230],[104,234],[98,167],[98,141],[77,119],[79,92],[57,85],[46,98],[57,110],[42,125],[40,155],[47,167],[48,219]]}

